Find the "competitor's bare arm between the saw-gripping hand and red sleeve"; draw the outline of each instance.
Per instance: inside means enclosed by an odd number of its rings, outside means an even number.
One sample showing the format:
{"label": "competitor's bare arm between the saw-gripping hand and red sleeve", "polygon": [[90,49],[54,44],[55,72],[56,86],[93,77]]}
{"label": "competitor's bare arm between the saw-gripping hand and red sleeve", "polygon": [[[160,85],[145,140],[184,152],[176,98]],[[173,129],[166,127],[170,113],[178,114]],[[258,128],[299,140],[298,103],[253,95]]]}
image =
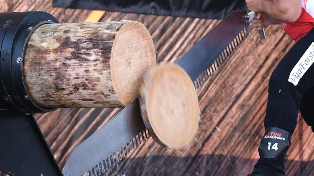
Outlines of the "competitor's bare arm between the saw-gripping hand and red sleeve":
{"label": "competitor's bare arm between the saw-gripping hand and red sleeve", "polygon": [[[300,0],[261,0],[261,11],[277,21],[293,23],[299,19],[302,4]],[[275,22],[275,21],[274,21]]]}

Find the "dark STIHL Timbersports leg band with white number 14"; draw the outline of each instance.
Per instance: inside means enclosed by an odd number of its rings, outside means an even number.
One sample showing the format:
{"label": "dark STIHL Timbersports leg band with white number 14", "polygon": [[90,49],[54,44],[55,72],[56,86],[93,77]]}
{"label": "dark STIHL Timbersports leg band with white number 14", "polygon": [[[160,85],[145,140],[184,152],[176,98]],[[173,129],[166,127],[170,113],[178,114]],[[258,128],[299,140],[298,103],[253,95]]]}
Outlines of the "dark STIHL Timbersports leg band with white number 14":
{"label": "dark STIHL Timbersports leg band with white number 14", "polygon": [[285,157],[290,147],[291,134],[277,127],[269,127],[258,146],[258,154],[264,158]]}

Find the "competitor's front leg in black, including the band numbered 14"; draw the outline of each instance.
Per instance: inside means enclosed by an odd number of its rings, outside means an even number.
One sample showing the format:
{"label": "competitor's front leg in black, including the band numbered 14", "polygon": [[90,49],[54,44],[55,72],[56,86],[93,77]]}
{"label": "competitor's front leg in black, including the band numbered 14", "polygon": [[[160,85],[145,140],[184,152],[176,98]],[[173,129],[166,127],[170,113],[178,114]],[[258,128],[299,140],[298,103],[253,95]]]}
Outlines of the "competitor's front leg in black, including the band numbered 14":
{"label": "competitor's front leg in black, including the band numbered 14", "polygon": [[[253,172],[284,176],[284,157],[290,146],[306,90],[314,85],[314,30],[300,39],[274,69],[268,89],[265,135]],[[314,45],[313,45],[314,47]]]}

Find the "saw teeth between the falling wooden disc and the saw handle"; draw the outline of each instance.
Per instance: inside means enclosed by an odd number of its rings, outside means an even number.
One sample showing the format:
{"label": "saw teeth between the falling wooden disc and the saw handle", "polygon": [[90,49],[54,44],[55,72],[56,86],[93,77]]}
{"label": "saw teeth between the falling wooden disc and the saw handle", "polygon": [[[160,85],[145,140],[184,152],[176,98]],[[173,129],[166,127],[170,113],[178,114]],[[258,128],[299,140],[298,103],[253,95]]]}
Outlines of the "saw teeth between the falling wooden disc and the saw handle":
{"label": "saw teeth between the falling wooden disc and the saw handle", "polygon": [[246,38],[246,34],[246,28],[244,28],[241,33],[239,33],[239,35],[230,42],[229,46],[227,46],[226,49],[224,49],[224,51],[221,52],[221,54],[214,60],[212,65],[194,81],[196,91],[198,91],[205,84],[206,80],[208,80],[219,69],[219,67],[221,67],[227,58],[229,58],[233,52],[236,51],[242,41]]}

